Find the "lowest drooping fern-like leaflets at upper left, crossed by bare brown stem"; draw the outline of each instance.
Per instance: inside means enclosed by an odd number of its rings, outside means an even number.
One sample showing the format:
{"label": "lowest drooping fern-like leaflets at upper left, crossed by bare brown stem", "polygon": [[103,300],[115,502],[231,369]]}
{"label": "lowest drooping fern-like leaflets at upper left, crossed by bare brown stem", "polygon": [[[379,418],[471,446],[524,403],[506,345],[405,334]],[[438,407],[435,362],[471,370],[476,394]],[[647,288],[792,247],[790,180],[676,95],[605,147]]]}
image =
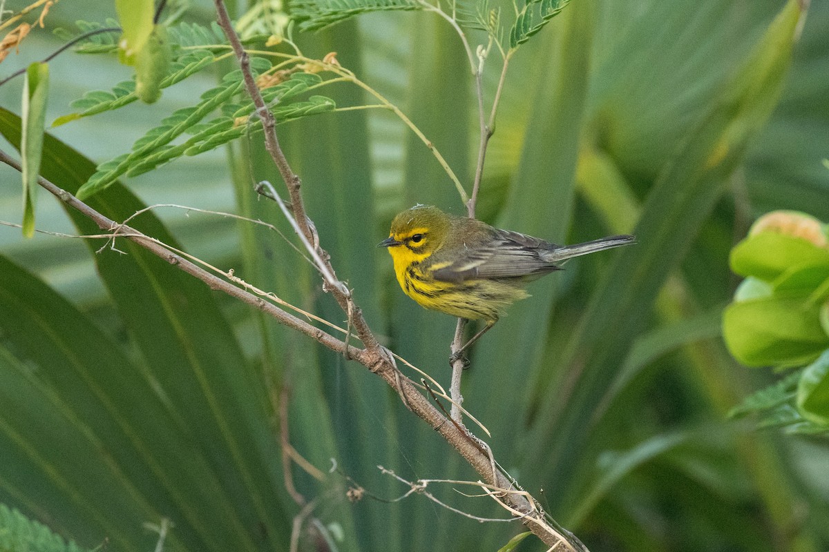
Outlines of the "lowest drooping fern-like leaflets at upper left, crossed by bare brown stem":
{"label": "lowest drooping fern-like leaflets at upper left, crossed by bare brown stem", "polygon": [[[251,69],[262,73],[270,69],[270,62],[262,58],[251,58]],[[318,74],[296,73],[283,83],[262,90],[264,101],[273,106],[277,122],[327,113],[336,108],[331,98],[311,96],[303,101],[286,103],[286,100],[303,94],[322,82]],[[201,95],[195,106],[178,109],[162,120],[162,124],[151,129],[133,144],[133,151],[115,157],[98,166],[95,175],[78,190],[83,199],[103,190],[122,175],[135,176],[173,161],[181,156],[195,156],[210,151],[245,136],[246,132],[257,132],[262,122],[254,115],[254,104],[233,103],[232,99],[244,88],[241,71],[226,74],[222,83]],[[205,121],[216,110],[221,115]],[[173,143],[184,134],[190,137]]]}

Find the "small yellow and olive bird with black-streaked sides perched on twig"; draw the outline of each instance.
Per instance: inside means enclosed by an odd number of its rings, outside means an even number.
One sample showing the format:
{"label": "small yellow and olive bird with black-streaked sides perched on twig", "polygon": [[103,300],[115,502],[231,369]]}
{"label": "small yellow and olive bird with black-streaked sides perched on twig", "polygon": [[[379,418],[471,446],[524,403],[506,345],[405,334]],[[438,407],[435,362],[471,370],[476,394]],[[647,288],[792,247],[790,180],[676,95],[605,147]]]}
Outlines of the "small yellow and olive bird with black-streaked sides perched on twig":
{"label": "small yellow and olive bird with black-streaked sides perched on twig", "polygon": [[486,323],[453,355],[457,358],[508,306],[529,297],[530,281],[560,270],[572,257],[635,241],[620,235],[561,246],[417,204],[395,216],[389,237],[377,247],[388,248],[400,288],[419,305]]}

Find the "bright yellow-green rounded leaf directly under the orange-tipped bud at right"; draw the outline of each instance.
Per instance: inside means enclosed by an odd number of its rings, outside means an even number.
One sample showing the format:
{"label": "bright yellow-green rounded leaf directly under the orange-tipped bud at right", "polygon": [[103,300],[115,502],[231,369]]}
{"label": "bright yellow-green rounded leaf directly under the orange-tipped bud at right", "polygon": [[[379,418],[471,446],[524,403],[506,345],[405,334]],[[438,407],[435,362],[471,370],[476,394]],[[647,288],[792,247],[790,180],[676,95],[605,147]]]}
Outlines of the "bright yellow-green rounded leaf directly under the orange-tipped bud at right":
{"label": "bright yellow-green rounded leaf directly under the orange-tipped bud at right", "polygon": [[731,270],[740,276],[773,281],[798,265],[829,266],[829,251],[803,238],[760,232],[739,242],[730,256]]}

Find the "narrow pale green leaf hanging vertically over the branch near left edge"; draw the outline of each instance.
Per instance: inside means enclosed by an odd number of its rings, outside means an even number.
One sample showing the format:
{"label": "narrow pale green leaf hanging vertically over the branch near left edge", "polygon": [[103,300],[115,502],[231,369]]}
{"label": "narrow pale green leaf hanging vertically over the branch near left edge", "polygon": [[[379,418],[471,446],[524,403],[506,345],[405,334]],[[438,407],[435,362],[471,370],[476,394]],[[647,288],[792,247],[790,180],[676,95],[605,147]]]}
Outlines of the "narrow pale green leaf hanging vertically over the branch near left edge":
{"label": "narrow pale green leaf hanging vertically over the branch near left edge", "polygon": [[43,127],[46,124],[46,101],[49,94],[49,65],[33,63],[26,70],[23,84],[23,235],[35,235],[37,177],[41,170]]}

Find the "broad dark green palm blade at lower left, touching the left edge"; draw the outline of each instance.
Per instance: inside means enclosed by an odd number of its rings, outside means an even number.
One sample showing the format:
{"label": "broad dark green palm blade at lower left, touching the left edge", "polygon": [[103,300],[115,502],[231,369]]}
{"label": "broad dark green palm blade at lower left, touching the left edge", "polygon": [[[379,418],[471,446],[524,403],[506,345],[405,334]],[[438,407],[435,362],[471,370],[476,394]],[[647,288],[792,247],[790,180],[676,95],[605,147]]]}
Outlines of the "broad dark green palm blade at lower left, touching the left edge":
{"label": "broad dark green palm blade at lower left, touching the left edge", "polygon": [[[167,515],[206,515],[170,500],[163,473],[176,464],[198,488],[216,485],[142,370],[42,281],[2,256],[0,271],[0,491],[85,545],[148,544],[131,520],[160,516],[149,497]],[[90,462],[104,450],[107,462]]]}

